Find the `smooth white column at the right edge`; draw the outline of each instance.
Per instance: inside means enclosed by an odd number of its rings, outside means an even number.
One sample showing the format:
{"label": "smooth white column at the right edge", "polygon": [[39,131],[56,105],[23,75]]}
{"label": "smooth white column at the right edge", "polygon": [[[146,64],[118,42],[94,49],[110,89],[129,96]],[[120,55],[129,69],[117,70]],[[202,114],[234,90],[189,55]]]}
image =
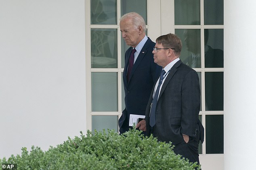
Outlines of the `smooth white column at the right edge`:
{"label": "smooth white column at the right edge", "polygon": [[225,170],[256,169],[256,1],[224,0]]}

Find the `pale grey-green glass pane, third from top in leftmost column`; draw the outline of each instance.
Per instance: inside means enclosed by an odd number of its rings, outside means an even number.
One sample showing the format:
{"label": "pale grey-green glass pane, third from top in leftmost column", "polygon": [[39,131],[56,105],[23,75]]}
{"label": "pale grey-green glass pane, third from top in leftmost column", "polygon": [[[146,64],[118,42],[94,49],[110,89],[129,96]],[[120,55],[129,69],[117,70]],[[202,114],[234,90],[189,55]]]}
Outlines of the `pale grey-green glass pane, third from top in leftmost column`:
{"label": "pale grey-green glass pane, third from top in leftmost column", "polygon": [[118,111],[118,73],[92,72],[92,111]]}

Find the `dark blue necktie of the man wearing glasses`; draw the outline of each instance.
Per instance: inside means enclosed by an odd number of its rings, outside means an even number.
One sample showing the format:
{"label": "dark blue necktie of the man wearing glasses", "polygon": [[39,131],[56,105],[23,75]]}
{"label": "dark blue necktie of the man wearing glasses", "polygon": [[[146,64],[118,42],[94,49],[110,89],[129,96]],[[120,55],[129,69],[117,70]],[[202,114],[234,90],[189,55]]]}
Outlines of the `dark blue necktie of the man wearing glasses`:
{"label": "dark blue necktie of the man wearing glasses", "polygon": [[150,110],[150,117],[149,117],[149,125],[151,127],[155,126],[155,109],[156,109],[156,104],[157,104],[157,99],[158,99],[158,94],[159,94],[160,86],[161,86],[162,81],[164,79],[164,74],[165,73],[166,72],[164,70],[162,70],[162,72],[160,74],[159,83],[158,83],[157,89],[155,90],[154,98],[152,100],[151,110]]}

